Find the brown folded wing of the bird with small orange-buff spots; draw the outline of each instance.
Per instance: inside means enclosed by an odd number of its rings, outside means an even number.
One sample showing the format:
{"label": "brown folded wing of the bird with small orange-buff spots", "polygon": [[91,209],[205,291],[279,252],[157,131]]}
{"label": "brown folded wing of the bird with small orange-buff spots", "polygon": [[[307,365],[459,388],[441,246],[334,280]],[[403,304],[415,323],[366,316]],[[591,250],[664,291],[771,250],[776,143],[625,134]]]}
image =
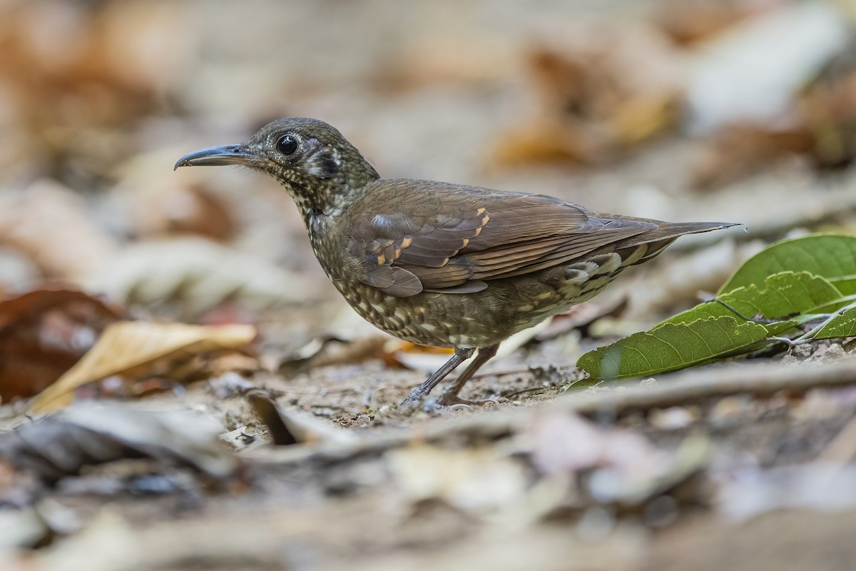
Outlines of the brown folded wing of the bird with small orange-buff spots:
{"label": "brown folded wing of the bird with small orange-buff spots", "polygon": [[[657,223],[597,217],[538,194],[377,181],[348,212],[348,251],[363,283],[398,297],[468,293],[490,280],[578,259]],[[371,206],[369,206],[371,205]]]}

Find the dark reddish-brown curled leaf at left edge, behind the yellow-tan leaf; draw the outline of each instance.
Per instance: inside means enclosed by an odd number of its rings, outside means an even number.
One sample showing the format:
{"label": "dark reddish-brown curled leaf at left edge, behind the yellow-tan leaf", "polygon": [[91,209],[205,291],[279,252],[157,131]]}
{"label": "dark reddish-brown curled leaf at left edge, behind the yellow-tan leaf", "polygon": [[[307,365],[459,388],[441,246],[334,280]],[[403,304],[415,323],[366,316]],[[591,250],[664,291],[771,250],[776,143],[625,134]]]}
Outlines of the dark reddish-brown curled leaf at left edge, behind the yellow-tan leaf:
{"label": "dark reddish-brown curled leaf at left edge, behind the yellow-tan leaf", "polygon": [[0,301],[0,399],[45,390],[119,318],[104,302],[68,289],[39,289]]}

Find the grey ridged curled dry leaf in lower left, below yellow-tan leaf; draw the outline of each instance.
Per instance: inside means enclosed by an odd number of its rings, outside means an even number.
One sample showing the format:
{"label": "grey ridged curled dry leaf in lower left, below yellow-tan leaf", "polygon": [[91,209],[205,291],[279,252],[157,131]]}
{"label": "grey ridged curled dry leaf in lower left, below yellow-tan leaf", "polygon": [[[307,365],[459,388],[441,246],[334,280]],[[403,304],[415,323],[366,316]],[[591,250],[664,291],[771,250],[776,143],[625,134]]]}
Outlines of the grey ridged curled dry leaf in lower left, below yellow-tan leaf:
{"label": "grey ridged curled dry leaf in lower left, below yellow-tan leaf", "polygon": [[219,445],[220,430],[192,413],[79,405],[0,436],[0,459],[48,482],[85,466],[140,457],[177,461],[224,478],[236,461]]}

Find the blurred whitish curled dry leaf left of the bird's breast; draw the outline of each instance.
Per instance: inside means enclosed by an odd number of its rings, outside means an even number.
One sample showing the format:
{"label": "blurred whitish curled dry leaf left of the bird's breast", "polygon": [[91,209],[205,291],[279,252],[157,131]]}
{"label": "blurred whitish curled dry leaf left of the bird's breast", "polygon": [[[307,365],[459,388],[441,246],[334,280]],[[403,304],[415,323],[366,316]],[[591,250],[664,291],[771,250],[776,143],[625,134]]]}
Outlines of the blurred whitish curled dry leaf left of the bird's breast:
{"label": "blurred whitish curled dry leaf left of the bird's breast", "polygon": [[312,279],[201,238],[134,244],[88,286],[113,299],[175,304],[187,318],[225,300],[250,310],[317,298]]}

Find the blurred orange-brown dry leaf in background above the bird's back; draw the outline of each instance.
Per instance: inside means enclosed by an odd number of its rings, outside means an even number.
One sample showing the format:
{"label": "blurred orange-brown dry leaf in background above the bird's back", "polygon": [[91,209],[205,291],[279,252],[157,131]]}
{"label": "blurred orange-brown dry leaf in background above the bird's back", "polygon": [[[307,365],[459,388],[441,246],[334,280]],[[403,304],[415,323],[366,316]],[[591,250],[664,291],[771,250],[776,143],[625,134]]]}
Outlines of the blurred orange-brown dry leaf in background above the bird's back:
{"label": "blurred orange-brown dry leaf in background above the bird's back", "polygon": [[500,166],[602,164],[677,123],[680,65],[656,31],[583,30],[533,51],[529,65],[540,110],[499,138]]}

